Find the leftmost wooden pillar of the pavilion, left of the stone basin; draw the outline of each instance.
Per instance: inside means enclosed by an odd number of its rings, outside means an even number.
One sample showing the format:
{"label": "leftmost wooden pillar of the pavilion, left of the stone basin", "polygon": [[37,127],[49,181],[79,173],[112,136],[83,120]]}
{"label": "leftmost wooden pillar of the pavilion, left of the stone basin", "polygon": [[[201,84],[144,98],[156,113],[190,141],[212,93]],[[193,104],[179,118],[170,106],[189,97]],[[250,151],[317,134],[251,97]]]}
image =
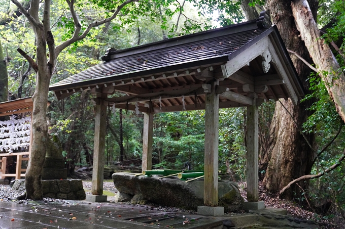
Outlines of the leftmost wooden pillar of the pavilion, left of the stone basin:
{"label": "leftmost wooden pillar of the pavilion, left of the stone basin", "polygon": [[95,110],[95,136],[93,145],[92,195],[103,194],[104,150],[106,147],[107,107],[99,98]]}

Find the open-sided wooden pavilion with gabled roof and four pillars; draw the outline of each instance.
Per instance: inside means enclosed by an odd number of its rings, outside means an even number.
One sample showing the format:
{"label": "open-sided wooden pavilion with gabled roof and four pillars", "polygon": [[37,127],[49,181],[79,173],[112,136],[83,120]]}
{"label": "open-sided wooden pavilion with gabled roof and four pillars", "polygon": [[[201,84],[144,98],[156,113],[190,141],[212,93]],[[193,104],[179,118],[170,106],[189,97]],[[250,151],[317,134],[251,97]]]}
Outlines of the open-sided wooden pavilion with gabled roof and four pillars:
{"label": "open-sided wooden pavilion with gabled roof and four pillars", "polygon": [[[61,100],[91,90],[96,103],[92,194],[102,195],[107,106],[144,113],[143,170],[151,170],[153,115],[205,110],[204,205],[218,204],[218,110],[248,109],[247,197],[258,196],[258,106],[304,95],[269,16],[126,50],[50,86]],[[116,91],[121,97],[110,97]]]}

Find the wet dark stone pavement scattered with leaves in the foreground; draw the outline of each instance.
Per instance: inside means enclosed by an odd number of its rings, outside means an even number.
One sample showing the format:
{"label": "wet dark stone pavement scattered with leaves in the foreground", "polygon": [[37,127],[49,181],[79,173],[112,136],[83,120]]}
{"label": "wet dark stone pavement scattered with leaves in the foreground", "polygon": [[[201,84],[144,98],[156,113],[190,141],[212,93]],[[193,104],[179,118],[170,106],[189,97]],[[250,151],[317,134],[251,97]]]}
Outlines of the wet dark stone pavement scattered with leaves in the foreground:
{"label": "wet dark stone pavement scattered with leaves in the foreground", "polygon": [[165,212],[150,206],[75,201],[71,204],[0,202],[0,228],[212,228],[223,217]]}

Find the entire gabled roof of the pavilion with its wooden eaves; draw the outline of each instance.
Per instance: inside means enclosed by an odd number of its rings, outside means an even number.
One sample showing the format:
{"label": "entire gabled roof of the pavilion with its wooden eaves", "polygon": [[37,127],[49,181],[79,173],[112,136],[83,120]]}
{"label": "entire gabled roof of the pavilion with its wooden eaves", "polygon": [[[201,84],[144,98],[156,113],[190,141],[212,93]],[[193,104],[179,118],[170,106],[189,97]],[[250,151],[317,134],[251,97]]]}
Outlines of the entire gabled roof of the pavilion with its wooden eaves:
{"label": "entire gabled roof of the pavilion with its wooden eaves", "polygon": [[[262,67],[265,58],[271,65],[267,72]],[[154,113],[181,111],[183,97],[186,110],[204,109],[202,85],[213,78],[220,80],[221,108],[247,106],[251,93],[261,101],[291,98],[294,104],[304,95],[277,27],[260,29],[255,20],[110,50],[103,59],[106,62],[53,84],[50,90],[58,100],[81,90],[107,95],[120,91],[122,97],[107,98],[104,105],[134,110],[138,103],[140,111],[147,112],[145,104],[151,101]]]}

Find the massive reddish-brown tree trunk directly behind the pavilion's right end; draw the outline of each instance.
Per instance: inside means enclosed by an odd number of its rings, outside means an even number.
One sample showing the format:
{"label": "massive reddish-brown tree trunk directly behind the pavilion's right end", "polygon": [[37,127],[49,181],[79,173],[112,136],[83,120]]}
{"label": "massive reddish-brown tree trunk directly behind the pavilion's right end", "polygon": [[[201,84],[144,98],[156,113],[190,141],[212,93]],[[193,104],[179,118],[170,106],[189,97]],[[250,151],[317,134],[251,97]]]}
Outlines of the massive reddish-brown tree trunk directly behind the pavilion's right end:
{"label": "massive reddish-brown tree trunk directly behind the pavilion's right end", "polygon": [[[272,0],[269,9],[272,22],[277,25],[286,47],[310,62],[309,53],[293,20],[290,1]],[[306,79],[310,69],[296,57],[291,56],[291,59],[304,88],[308,90]],[[291,100],[281,102],[293,117],[277,102],[270,127],[271,157],[263,180],[265,188],[271,192],[279,192],[291,180],[308,174],[315,156],[298,130],[308,117],[309,112],[306,109],[313,101],[298,103],[297,106],[294,106]],[[314,143],[313,134],[308,134],[307,139],[311,144]],[[299,185],[306,187],[308,184],[301,182]],[[294,186],[285,197],[291,199],[294,192],[299,191],[298,187]]]}

